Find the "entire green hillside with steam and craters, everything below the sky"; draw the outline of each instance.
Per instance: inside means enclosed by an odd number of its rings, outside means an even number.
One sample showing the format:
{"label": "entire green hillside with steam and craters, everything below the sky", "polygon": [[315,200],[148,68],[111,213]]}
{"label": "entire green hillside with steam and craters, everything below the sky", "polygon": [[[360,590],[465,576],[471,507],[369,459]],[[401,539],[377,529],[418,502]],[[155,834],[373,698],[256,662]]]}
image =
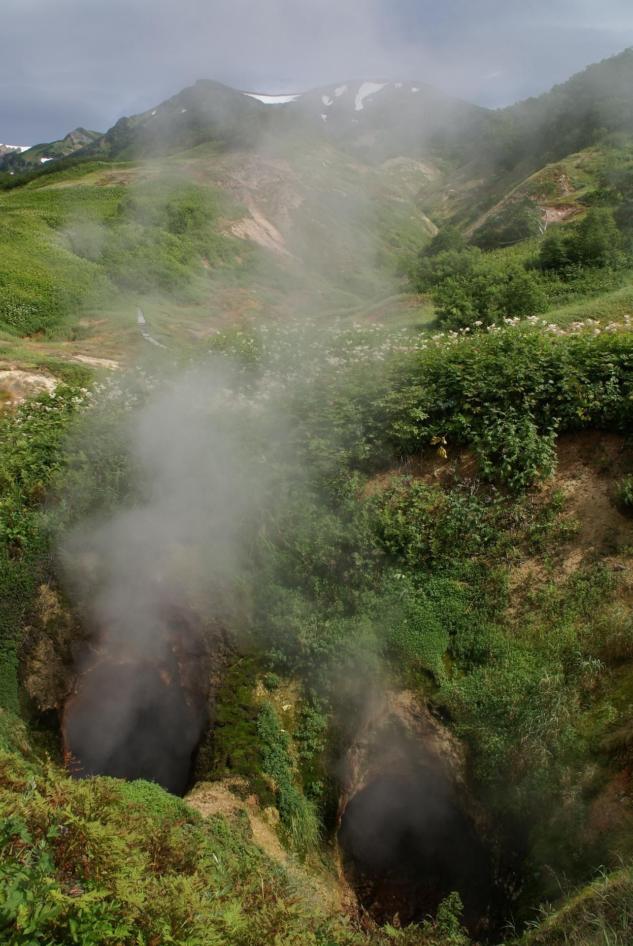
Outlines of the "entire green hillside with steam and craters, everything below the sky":
{"label": "entire green hillside with steam and craters, everything below the sky", "polygon": [[628,942],[631,61],[7,175],[6,941]]}

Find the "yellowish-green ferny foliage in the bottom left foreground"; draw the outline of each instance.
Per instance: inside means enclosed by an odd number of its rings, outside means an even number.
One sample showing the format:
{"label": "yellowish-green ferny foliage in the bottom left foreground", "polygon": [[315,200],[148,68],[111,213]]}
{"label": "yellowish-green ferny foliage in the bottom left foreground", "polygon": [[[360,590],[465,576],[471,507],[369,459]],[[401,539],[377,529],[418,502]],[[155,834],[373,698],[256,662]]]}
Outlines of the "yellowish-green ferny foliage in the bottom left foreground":
{"label": "yellowish-green ferny foliage in the bottom left foreground", "polygon": [[3,942],[364,942],[304,908],[301,885],[249,843],[247,823],[204,819],[147,783],[73,781],[15,756],[0,757],[0,793]]}

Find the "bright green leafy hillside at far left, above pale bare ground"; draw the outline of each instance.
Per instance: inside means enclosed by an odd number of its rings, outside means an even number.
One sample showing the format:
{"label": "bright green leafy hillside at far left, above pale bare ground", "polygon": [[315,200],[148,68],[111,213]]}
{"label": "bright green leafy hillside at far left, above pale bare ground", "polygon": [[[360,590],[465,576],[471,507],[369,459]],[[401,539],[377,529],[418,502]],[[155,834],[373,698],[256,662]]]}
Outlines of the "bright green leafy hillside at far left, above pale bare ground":
{"label": "bright green leafy hillside at far left, above pale bare ground", "polygon": [[224,273],[248,266],[248,249],[216,226],[236,214],[224,192],[168,171],[134,187],[63,186],[103,168],[62,171],[56,187],[44,178],[0,200],[0,329],[9,335],[72,337],[80,313],[120,305],[128,292],[198,300],[202,260]]}

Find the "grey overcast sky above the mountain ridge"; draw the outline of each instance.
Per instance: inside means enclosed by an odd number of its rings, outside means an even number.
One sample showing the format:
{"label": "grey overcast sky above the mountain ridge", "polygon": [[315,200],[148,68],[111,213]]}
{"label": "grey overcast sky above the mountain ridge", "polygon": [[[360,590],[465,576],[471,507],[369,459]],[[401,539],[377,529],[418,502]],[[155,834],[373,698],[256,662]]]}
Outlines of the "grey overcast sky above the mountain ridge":
{"label": "grey overcast sky above the mountain ridge", "polygon": [[196,79],[299,92],[420,79],[497,108],[633,45],[630,0],[17,0],[0,142],[105,131]]}

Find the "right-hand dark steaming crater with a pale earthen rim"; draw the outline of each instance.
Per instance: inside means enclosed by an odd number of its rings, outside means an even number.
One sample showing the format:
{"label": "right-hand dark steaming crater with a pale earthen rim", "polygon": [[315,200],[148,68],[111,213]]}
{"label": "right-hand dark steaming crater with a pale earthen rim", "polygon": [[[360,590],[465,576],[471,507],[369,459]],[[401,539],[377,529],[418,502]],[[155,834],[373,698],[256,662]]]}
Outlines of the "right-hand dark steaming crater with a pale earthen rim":
{"label": "right-hand dark steaming crater with a pale earthen rim", "polygon": [[494,936],[515,896],[517,856],[468,789],[465,746],[413,693],[388,689],[372,692],[349,745],[337,841],[360,908],[406,926],[456,890],[471,936]]}

